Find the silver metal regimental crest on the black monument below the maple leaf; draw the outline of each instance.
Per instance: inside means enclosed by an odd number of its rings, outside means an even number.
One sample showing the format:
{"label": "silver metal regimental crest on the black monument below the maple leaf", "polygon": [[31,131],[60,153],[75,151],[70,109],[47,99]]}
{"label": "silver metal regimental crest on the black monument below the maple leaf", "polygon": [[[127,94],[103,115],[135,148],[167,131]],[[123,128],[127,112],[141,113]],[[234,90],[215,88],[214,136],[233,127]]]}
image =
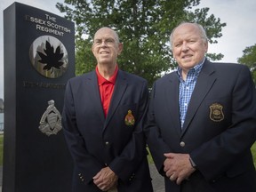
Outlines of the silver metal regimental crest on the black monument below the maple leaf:
{"label": "silver metal regimental crest on the black monument below the maple leaf", "polygon": [[54,100],[49,100],[48,105],[44,115],[41,117],[39,130],[50,136],[60,132],[62,126],[60,112],[54,107]]}

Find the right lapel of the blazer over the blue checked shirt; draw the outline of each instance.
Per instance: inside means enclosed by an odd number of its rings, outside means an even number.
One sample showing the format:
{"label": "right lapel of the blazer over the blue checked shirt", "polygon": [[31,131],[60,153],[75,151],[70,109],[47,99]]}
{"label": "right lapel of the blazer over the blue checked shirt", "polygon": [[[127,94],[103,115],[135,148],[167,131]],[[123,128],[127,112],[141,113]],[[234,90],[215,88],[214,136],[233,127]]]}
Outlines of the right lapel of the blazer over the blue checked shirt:
{"label": "right lapel of the blazer over the blue checked shirt", "polygon": [[212,65],[213,64],[210,61],[205,60],[204,67],[198,76],[194,92],[192,93],[191,99],[189,101],[188,111],[186,114],[185,122],[183,124],[182,133],[187,130],[188,125],[196,114],[197,108],[199,108],[207,92],[210,91],[212,84],[214,84],[216,80],[216,76],[214,76],[214,67]]}

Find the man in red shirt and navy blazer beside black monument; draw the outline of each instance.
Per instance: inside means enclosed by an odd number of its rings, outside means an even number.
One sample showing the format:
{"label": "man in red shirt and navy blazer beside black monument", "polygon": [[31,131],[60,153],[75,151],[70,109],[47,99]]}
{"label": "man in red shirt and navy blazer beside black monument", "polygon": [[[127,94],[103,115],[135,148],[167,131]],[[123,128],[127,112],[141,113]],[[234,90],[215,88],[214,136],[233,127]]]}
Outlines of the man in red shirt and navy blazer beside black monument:
{"label": "man in red shirt and navy blazer beside black monument", "polygon": [[68,81],[62,124],[74,159],[73,192],[151,192],[142,132],[147,81],[120,70],[123,44],[111,28],[93,39],[95,71]]}

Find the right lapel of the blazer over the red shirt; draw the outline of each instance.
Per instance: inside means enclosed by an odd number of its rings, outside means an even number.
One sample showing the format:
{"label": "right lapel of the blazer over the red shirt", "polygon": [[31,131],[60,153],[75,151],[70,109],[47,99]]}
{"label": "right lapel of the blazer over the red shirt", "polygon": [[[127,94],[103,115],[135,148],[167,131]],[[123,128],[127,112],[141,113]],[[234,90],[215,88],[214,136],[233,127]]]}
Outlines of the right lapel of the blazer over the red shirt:
{"label": "right lapel of the blazer over the red shirt", "polygon": [[114,92],[110,101],[110,105],[108,108],[108,115],[106,117],[104,129],[107,127],[111,117],[114,115],[116,108],[119,105],[120,100],[123,98],[126,87],[127,87],[127,81],[124,76],[124,72],[121,70],[118,70],[118,74],[116,76],[115,89],[114,89]]}

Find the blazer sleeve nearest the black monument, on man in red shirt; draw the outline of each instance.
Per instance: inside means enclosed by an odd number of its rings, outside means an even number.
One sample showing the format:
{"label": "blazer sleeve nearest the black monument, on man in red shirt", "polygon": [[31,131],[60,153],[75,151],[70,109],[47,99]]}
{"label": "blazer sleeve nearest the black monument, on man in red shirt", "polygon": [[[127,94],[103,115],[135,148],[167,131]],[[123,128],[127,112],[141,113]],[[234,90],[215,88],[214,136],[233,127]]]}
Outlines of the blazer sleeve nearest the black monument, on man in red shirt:
{"label": "blazer sleeve nearest the black monument, on man in red shirt", "polygon": [[77,177],[81,177],[81,180],[88,183],[92,181],[92,177],[100,171],[102,165],[96,158],[88,153],[84,144],[84,139],[77,129],[74,96],[69,81],[66,86],[64,97],[62,126],[70,154],[75,162],[75,169],[78,170]]}

